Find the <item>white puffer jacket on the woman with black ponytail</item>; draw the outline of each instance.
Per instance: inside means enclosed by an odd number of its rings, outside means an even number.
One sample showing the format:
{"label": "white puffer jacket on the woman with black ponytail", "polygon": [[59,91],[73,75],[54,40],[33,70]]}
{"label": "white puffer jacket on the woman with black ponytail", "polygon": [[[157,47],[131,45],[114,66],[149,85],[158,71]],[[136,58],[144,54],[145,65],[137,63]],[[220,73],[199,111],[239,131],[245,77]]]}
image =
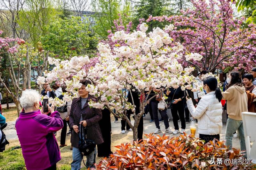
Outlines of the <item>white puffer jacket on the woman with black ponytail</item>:
{"label": "white puffer jacket on the woman with black ponytail", "polygon": [[187,100],[188,110],[198,120],[198,133],[217,135],[222,129],[222,105],[215,96],[215,91],[201,98],[195,108],[191,99]]}

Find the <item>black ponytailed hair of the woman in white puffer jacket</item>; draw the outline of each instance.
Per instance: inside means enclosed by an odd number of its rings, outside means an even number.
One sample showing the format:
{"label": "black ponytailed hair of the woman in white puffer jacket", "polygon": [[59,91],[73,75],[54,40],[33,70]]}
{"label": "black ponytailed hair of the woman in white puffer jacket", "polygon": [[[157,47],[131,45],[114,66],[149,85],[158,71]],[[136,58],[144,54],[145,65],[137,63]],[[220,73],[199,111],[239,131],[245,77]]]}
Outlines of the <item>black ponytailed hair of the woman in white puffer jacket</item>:
{"label": "black ponytailed hair of the woman in white puffer jacket", "polygon": [[222,99],[222,94],[221,94],[220,88],[218,87],[217,79],[213,76],[206,77],[204,78],[203,83],[204,85],[207,84],[207,86],[210,88],[211,91],[215,91],[215,96],[220,102]]}

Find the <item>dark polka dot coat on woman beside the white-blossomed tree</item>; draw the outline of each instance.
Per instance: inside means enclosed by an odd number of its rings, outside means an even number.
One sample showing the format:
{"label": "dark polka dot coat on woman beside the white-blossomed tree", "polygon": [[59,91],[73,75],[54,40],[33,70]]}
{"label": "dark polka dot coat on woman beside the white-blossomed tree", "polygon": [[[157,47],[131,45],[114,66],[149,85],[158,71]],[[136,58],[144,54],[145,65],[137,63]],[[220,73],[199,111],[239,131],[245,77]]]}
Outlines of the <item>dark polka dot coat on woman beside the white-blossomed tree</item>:
{"label": "dark polka dot coat on woman beside the white-blossomed tree", "polygon": [[[81,97],[73,99],[71,108],[70,108],[70,114],[69,114],[69,124],[70,126],[77,125],[79,126],[79,120],[82,114],[83,120],[86,120],[87,122],[87,139],[93,140],[96,144],[103,143],[102,134],[100,131],[99,121],[102,118],[101,109],[92,108],[89,106],[88,102],[97,101],[96,98],[92,97],[91,95],[88,96],[86,103],[84,104],[84,107],[81,108]],[[83,127],[83,132],[85,136],[85,128]],[[76,133],[75,131],[71,132],[71,145],[73,147],[79,147],[79,133]]]}

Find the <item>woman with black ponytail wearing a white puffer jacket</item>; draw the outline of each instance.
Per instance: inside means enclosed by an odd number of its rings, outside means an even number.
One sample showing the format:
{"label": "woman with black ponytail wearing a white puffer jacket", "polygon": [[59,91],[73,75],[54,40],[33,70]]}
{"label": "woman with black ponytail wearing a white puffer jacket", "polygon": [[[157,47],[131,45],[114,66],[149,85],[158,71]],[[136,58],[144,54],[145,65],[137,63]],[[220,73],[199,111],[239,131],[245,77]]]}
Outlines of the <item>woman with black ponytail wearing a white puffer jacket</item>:
{"label": "woman with black ponytail wearing a white puffer jacket", "polygon": [[196,108],[192,100],[188,98],[187,105],[191,115],[198,119],[199,138],[207,143],[214,138],[220,140],[222,130],[222,105],[220,101],[222,95],[215,77],[206,77],[203,84],[203,89],[207,94],[201,98]]}

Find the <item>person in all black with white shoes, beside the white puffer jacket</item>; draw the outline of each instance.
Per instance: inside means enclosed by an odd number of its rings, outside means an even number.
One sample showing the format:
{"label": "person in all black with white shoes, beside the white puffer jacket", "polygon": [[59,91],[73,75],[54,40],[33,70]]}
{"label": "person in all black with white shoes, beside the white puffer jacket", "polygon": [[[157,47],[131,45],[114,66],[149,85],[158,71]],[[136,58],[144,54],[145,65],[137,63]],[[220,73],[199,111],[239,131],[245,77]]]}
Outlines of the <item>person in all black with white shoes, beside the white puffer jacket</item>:
{"label": "person in all black with white shoes, beside the white puffer jacket", "polygon": [[[168,103],[171,105],[171,112],[172,112],[172,121],[174,125],[174,131],[173,134],[177,133],[183,133],[186,129],[186,122],[184,117],[184,102],[183,99],[184,91],[181,90],[181,87],[179,86],[177,89],[174,89],[173,87],[167,89],[166,96],[168,97]],[[178,116],[179,112],[179,116]],[[179,124],[178,124],[178,117],[180,117],[181,121],[181,131],[179,130]]]}

